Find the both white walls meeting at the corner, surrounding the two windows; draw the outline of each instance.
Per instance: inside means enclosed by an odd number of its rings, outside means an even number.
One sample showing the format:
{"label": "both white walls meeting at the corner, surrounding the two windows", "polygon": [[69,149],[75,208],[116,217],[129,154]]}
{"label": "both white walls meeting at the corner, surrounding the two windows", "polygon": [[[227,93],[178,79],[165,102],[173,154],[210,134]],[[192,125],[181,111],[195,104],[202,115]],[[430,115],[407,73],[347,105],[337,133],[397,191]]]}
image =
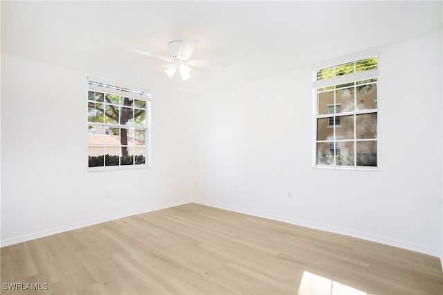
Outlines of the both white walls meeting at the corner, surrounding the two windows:
{"label": "both white walls meeting at the corner, surrounding the two windows", "polygon": [[87,73],[1,55],[1,245],[195,199],[442,256],[442,32],[379,52],[378,171],[311,167],[306,67],[154,92],[153,168],[87,172]]}

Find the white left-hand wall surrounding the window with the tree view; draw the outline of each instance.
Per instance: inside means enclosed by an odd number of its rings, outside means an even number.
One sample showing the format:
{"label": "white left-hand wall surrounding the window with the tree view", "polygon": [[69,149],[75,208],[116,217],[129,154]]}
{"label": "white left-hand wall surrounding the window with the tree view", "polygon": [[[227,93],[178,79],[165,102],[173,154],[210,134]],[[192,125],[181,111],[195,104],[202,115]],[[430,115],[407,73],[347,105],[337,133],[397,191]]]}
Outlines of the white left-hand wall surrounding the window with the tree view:
{"label": "white left-hand wall surrounding the window with the tree view", "polygon": [[87,73],[1,55],[2,246],[192,201],[189,100],[152,93],[151,169],[87,172],[86,99]]}

